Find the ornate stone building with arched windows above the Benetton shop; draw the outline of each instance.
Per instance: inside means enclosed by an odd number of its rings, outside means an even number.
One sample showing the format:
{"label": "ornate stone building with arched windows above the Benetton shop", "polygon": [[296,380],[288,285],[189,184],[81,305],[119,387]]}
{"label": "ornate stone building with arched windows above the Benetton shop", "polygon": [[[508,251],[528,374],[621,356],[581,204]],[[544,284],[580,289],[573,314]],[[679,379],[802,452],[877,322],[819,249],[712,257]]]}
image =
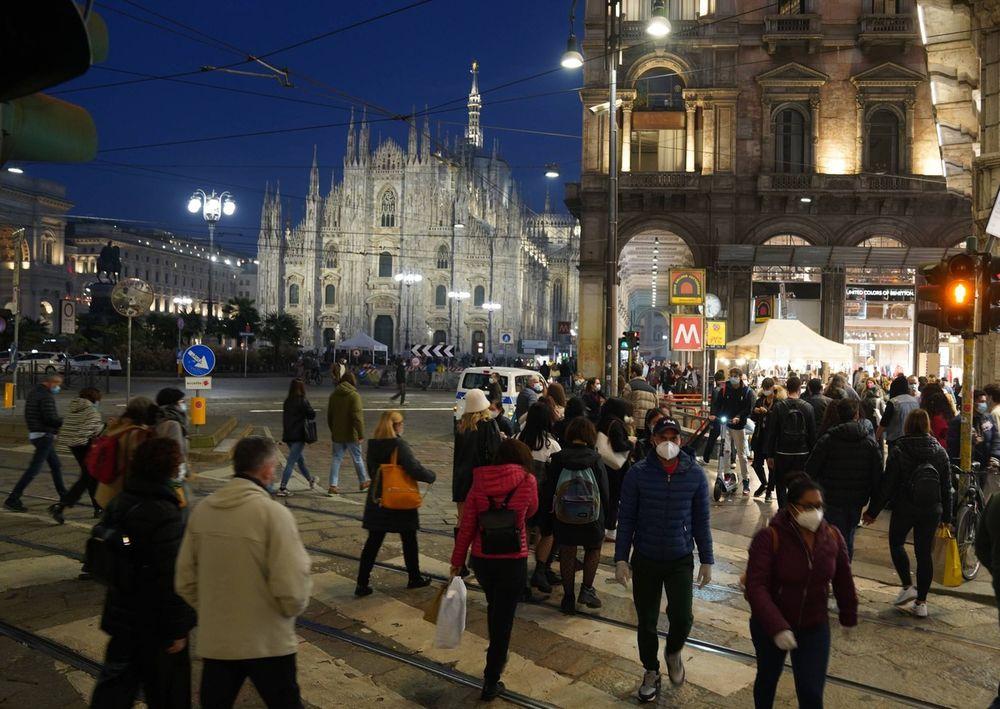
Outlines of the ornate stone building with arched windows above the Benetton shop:
{"label": "ornate stone building with arched windows above the Benetton shop", "polygon": [[[917,2],[674,0],[663,39],[645,33],[650,0],[621,5],[620,317],[649,305],[652,288],[653,315],[666,310],[666,278],[648,278],[656,239],[660,273],[708,269],[730,337],[750,328],[754,296],[784,283],[799,293],[786,314],[797,307],[824,336],[852,343],[856,363],[912,370],[922,352],[953,360],[948,342],[913,322],[912,292],[903,306],[859,305],[849,294],[863,291],[848,288],[912,290],[919,262],[973,229],[978,126],[951,106],[969,88],[961,71],[930,80],[939,67],[928,65]],[[566,192],[582,229],[588,374],[601,371],[604,341],[605,8],[586,6],[583,172]]]}

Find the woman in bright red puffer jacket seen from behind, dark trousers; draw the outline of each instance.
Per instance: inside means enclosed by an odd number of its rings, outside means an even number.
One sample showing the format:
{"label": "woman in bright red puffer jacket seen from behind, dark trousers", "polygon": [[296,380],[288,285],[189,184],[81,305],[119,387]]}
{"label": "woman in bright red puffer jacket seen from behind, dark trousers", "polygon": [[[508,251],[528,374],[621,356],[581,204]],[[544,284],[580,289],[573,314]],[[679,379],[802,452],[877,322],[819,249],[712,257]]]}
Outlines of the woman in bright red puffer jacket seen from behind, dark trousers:
{"label": "woman in bright red puffer jacket seen from behind, dark trousers", "polygon": [[[538,511],[538,483],[530,472],[531,449],[521,441],[508,438],[500,444],[495,461],[495,465],[484,465],[472,472],[472,488],[465,498],[451,554],[451,575],[455,577],[472,546],[472,570],[486,593],[490,636],[483,671],[482,698],[486,701],[494,699],[504,689],[500,674],[507,661],[517,602],[528,582],[525,520]],[[515,513],[515,528],[520,539],[516,549],[493,554],[483,551],[479,518],[491,506]]]}

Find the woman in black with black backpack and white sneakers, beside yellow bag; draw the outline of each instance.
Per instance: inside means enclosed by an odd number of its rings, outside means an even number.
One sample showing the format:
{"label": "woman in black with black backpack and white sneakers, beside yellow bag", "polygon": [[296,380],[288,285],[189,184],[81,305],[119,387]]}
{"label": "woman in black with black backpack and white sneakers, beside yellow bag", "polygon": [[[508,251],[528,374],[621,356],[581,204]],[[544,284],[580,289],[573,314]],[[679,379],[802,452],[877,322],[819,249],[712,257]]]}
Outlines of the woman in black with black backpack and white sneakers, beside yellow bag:
{"label": "woman in black with black backpack and white sneakers, beside yellow bag", "polygon": [[[934,532],[951,524],[951,468],[948,453],[931,435],[931,420],[923,409],[910,412],[903,435],[889,449],[882,489],[868,507],[864,523],[871,524],[886,503],[892,502],[889,521],[889,552],[903,584],[895,605],[918,618],[927,617],[927,592],[934,576],[931,550]],[[913,530],[917,557],[917,585],[910,575],[906,536]]]}

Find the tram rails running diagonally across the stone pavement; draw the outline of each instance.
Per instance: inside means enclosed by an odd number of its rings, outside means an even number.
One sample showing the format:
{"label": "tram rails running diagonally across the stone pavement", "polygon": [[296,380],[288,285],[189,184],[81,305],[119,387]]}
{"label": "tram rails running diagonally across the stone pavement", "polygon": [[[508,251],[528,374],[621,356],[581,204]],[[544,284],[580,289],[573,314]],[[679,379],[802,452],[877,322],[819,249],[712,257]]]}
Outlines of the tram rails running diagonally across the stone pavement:
{"label": "tram rails running diagonally across the stone pavement", "polygon": [[[53,546],[53,545],[50,545],[50,544],[42,544],[42,543],[39,543],[39,542],[32,542],[32,541],[17,539],[16,537],[11,537],[9,535],[0,535],[0,543],[14,544],[16,546],[22,546],[22,547],[25,547],[25,548],[33,549],[35,551],[42,551],[42,552],[47,552],[47,553],[52,553],[52,554],[59,554],[59,555],[62,555],[62,556],[69,557],[71,559],[75,559],[75,560],[80,560],[82,558],[82,555],[79,554],[78,552],[73,552],[71,550],[62,549],[60,547],[56,547],[56,546]],[[359,557],[356,557],[356,556],[354,556],[352,554],[347,554],[347,553],[344,553],[344,552],[333,551],[333,550],[330,550],[330,549],[324,549],[322,547],[316,547],[316,546],[312,546],[312,545],[306,546],[306,551],[308,551],[308,552],[310,552],[312,554],[319,554],[319,555],[323,555],[323,556],[329,556],[329,557],[332,557],[332,558],[339,558],[339,559],[343,559],[343,560],[351,561],[351,562],[355,562],[355,563],[360,561]],[[398,566],[396,564],[389,564],[389,563],[386,563],[386,562],[376,561],[375,562],[375,567],[383,569],[383,570],[386,570],[386,571],[392,571],[392,572],[395,572],[395,573],[400,573],[400,574],[407,573],[405,567]],[[435,579],[436,581],[440,581],[440,582],[443,582],[443,583],[446,583],[448,581],[448,577],[443,576],[441,574],[428,573],[428,572],[424,572],[424,574],[426,576],[429,576],[430,578]],[[476,583],[467,581],[466,585],[467,585],[467,587],[469,587],[472,590],[476,590],[478,592],[482,592],[481,587],[478,584],[476,584]],[[550,608],[550,609],[552,609],[554,611],[557,611],[557,612],[559,611],[559,607],[556,604],[554,604],[554,603],[541,602],[541,603],[538,603],[537,605],[540,605],[540,606],[543,606],[543,607],[546,607],[546,608]],[[633,625],[633,624],[631,624],[631,623],[628,623],[628,622],[625,622],[625,621],[621,621],[621,620],[617,620],[615,618],[609,618],[607,616],[601,616],[601,615],[590,614],[590,613],[577,613],[575,617],[586,618],[588,620],[591,620],[591,621],[594,621],[594,622],[597,622],[597,623],[602,623],[602,624],[609,625],[609,626],[612,626],[612,627],[621,628],[621,629],[624,629],[624,630],[634,631],[636,629],[636,626]],[[2,620],[0,620],[0,634],[7,634],[4,631],[3,623],[4,622]],[[324,625],[322,623],[318,623],[316,621],[312,621],[312,620],[308,620],[308,619],[304,619],[304,618],[300,618],[297,621],[297,625],[299,625],[299,627],[305,628],[307,630],[311,630],[313,632],[317,632],[317,633],[319,633],[321,635],[325,635],[327,637],[331,637],[331,638],[342,640],[344,642],[348,642],[348,643],[350,643],[352,645],[355,645],[356,647],[369,650],[369,651],[374,652],[376,654],[383,655],[384,657],[396,659],[399,662],[402,662],[404,664],[408,664],[408,665],[411,665],[413,667],[417,667],[419,669],[428,671],[428,672],[430,672],[432,674],[435,674],[436,676],[439,676],[439,677],[441,677],[443,679],[448,679],[449,681],[452,681],[452,682],[455,682],[455,683],[458,683],[458,684],[462,684],[463,686],[467,686],[467,687],[481,687],[482,686],[481,682],[479,682],[477,679],[475,679],[475,678],[473,678],[473,677],[471,677],[469,675],[465,675],[464,673],[457,672],[456,670],[454,670],[454,669],[452,669],[450,667],[441,665],[440,663],[435,663],[435,662],[430,661],[430,660],[425,660],[423,658],[419,658],[419,657],[416,657],[416,656],[407,655],[405,653],[400,653],[400,652],[398,652],[396,650],[392,650],[391,648],[385,647],[384,645],[380,645],[378,643],[375,643],[373,641],[367,640],[365,638],[361,638],[359,636],[352,635],[352,634],[347,633],[346,631],[340,630],[338,628],[333,628],[333,627]],[[24,631],[24,632],[27,632],[27,631]],[[663,630],[658,630],[657,634],[660,636],[660,638],[663,638],[663,639],[665,639],[667,637],[667,632],[663,631]],[[715,655],[720,655],[720,656],[723,656],[723,657],[728,657],[728,658],[731,658],[731,659],[736,659],[736,660],[739,660],[739,661],[744,662],[746,664],[754,664],[756,662],[756,657],[755,657],[755,655],[752,652],[747,652],[747,651],[744,651],[744,650],[739,650],[739,649],[736,649],[736,648],[731,648],[731,647],[728,647],[726,645],[721,645],[719,643],[711,642],[711,641],[708,641],[708,640],[702,640],[702,639],[695,638],[695,637],[689,637],[687,639],[687,643],[689,645],[691,645],[692,647],[696,647],[696,648],[698,648],[700,650],[703,650],[705,652],[710,652],[710,653],[715,654]],[[65,649],[68,650],[68,648],[65,648]],[[998,648],[991,647],[991,649],[997,650]],[[74,651],[69,650],[69,652],[74,652]],[[791,662],[790,661],[786,661],[785,671],[788,671],[790,669],[791,669]],[[910,695],[903,694],[903,693],[900,693],[900,692],[896,692],[896,691],[891,690],[891,689],[886,689],[884,687],[878,687],[878,686],[875,686],[875,685],[866,684],[864,682],[859,682],[857,680],[852,680],[850,678],[842,677],[840,675],[835,675],[835,674],[829,674],[828,673],[827,674],[827,681],[829,681],[831,684],[835,684],[835,685],[838,685],[838,686],[841,686],[841,687],[846,687],[846,688],[849,688],[849,689],[853,689],[855,691],[859,691],[859,692],[871,694],[871,695],[874,695],[874,696],[876,696],[876,697],[878,697],[880,699],[886,699],[886,700],[889,700],[889,701],[897,702],[897,703],[905,705],[905,706],[924,707],[925,709],[947,709],[947,705],[937,704],[935,702],[930,702],[930,701],[927,701],[927,700],[919,699],[917,697],[912,697]],[[518,706],[525,706],[525,707],[550,707],[551,706],[551,705],[546,704],[544,702],[538,702],[537,700],[534,700],[534,699],[532,699],[530,697],[526,697],[526,696],[523,696],[523,695],[516,695],[516,694],[512,694],[510,692],[505,692],[504,695],[503,695],[503,697],[505,699],[507,699],[508,701],[510,701],[511,703],[517,704]]]}

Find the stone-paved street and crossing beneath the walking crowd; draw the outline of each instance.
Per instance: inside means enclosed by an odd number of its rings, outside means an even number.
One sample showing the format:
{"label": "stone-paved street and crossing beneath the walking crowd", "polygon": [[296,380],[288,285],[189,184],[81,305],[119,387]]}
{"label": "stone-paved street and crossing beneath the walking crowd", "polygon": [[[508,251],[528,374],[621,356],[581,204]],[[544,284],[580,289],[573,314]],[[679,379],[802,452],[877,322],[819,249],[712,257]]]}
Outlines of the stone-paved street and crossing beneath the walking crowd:
{"label": "stone-paved street and crossing beneath the walking crowd", "polygon": [[[219,413],[252,423],[257,432],[280,436],[281,381],[243,382],[217,391],[213,402]],[[140,389],[141,391],[141,389]],[[326,391],[326,390],[325,390]],[[368,408],[366,422],[374,426],[380,411],[391,406],[388,389],[362,390]],[[311,393],[322,408],[325,396]],[[454,506],[450,502],[451,402],[447,393],[414,392],[407,407],[407,439],[427,467],[438,473],[421,510],[421,564],[429,573],[447,573],[451,551]],[[112,410],[111,406],[106,407]],[[60,396],[60,406],[66,398]],[[322,416],[322,413],[321,413]],[[369,430],[371,430],[369,428]],[[0,446],[0,487],[10,488],[27,462],[27,443]],[[329,443],[308,449],[314,473],[325,474]],[[313,557],[314,591],[306,618],[350,636],[375,642],[402,654],[443,663],[479,678],[486,646],[485,600],[470,588],[467,632],[458,650],[431,647],[433,626],[423,620],[423,609],[435,588],[405,589],[405,575],[377,568],[375,593],[363,599],[352,595],[356,557],[365,533],[358,518],[363,497],[356,491],[352,464],[341,474],[344,494],[327,497],[305,489],[293,478],[295,492],[287,503],[299,523],[303,541]],[[67,468],[70,468],[67,464]],[[201,465],[195,482],[197,499],[219,487],[229,475],[221,464]],[[68,476],[72,478],[72,475]],[[51,481],[40,475],[28,490],[28,514],[0,513],[0,620],[31,630],[100,660],[106,637],[98,629],[102,589],[78,580],[79,555],[92,523],[88,511],[75,508],[67,523],[56,526],[45,514],[53,495]],[[696,590],[692,636],[743,653],[752,653],[748,607],[738,590],[738,576],[746,563],[750,535],[773,512],[764,503],[738,499],[713,506],[712,525],[717,564],[713,584]],[[931,617],[917,621],[891,607],[896,593],[886,548],[885,527],[858,533],[855,564],[861,597],[861,623],[850,637],[834,633],[831,678],[855,683],[827,684],[827,706],[898,706],[872,688],[888,690],[933,705],[985,707],[1000,677],[1000,632],[988,577],[944,595],[930,598]],[[61,551],[60,551],[61,550]],[[505,674],[507,686],[537,701],[555,706],[611,706],[635,703],[641,674],[634,632],[627,624],[635,614],[630,592],[610,583],[611,547],[605,546],[604,565],[595,584],[604,601],[600,611],[567,617],[557,610],[561,591],[545,603],[521,605],[515,621],[511,656]],[[69,556],[67,556],[69,555]],[[380,561],[402,565],[398,539],[388,538]],[[599,622],[592,617],[616,621]],[[665,628],[666,620],[663,620]],[[836,625],[834,621],[834,625]],[[334,707],[349,703],[387,707],[470,706],[475,688],[431,675],[393,657],[373,654],[343,639],[313,630],[300,630],[300,683],[308,706]],[[197,638],[194,640],[197,648]],[[86,672],[53,660],[37,650],[0,636],[5,668],[0,674],[0,706],[80,707],[86,705],[93,678]],[[661,706],[753,705],[754,671],[739,655],[710,652],[688,645],[684,651],[687,683],[668,688],[664,680]],[[195,679],[200,663],[195,662]],[[786,673],[779,688],[778,706],[794,705],[794,688]],[[503,702],[500,703],[503,705]],[[247,687],[239,706],[261,706]]]}

